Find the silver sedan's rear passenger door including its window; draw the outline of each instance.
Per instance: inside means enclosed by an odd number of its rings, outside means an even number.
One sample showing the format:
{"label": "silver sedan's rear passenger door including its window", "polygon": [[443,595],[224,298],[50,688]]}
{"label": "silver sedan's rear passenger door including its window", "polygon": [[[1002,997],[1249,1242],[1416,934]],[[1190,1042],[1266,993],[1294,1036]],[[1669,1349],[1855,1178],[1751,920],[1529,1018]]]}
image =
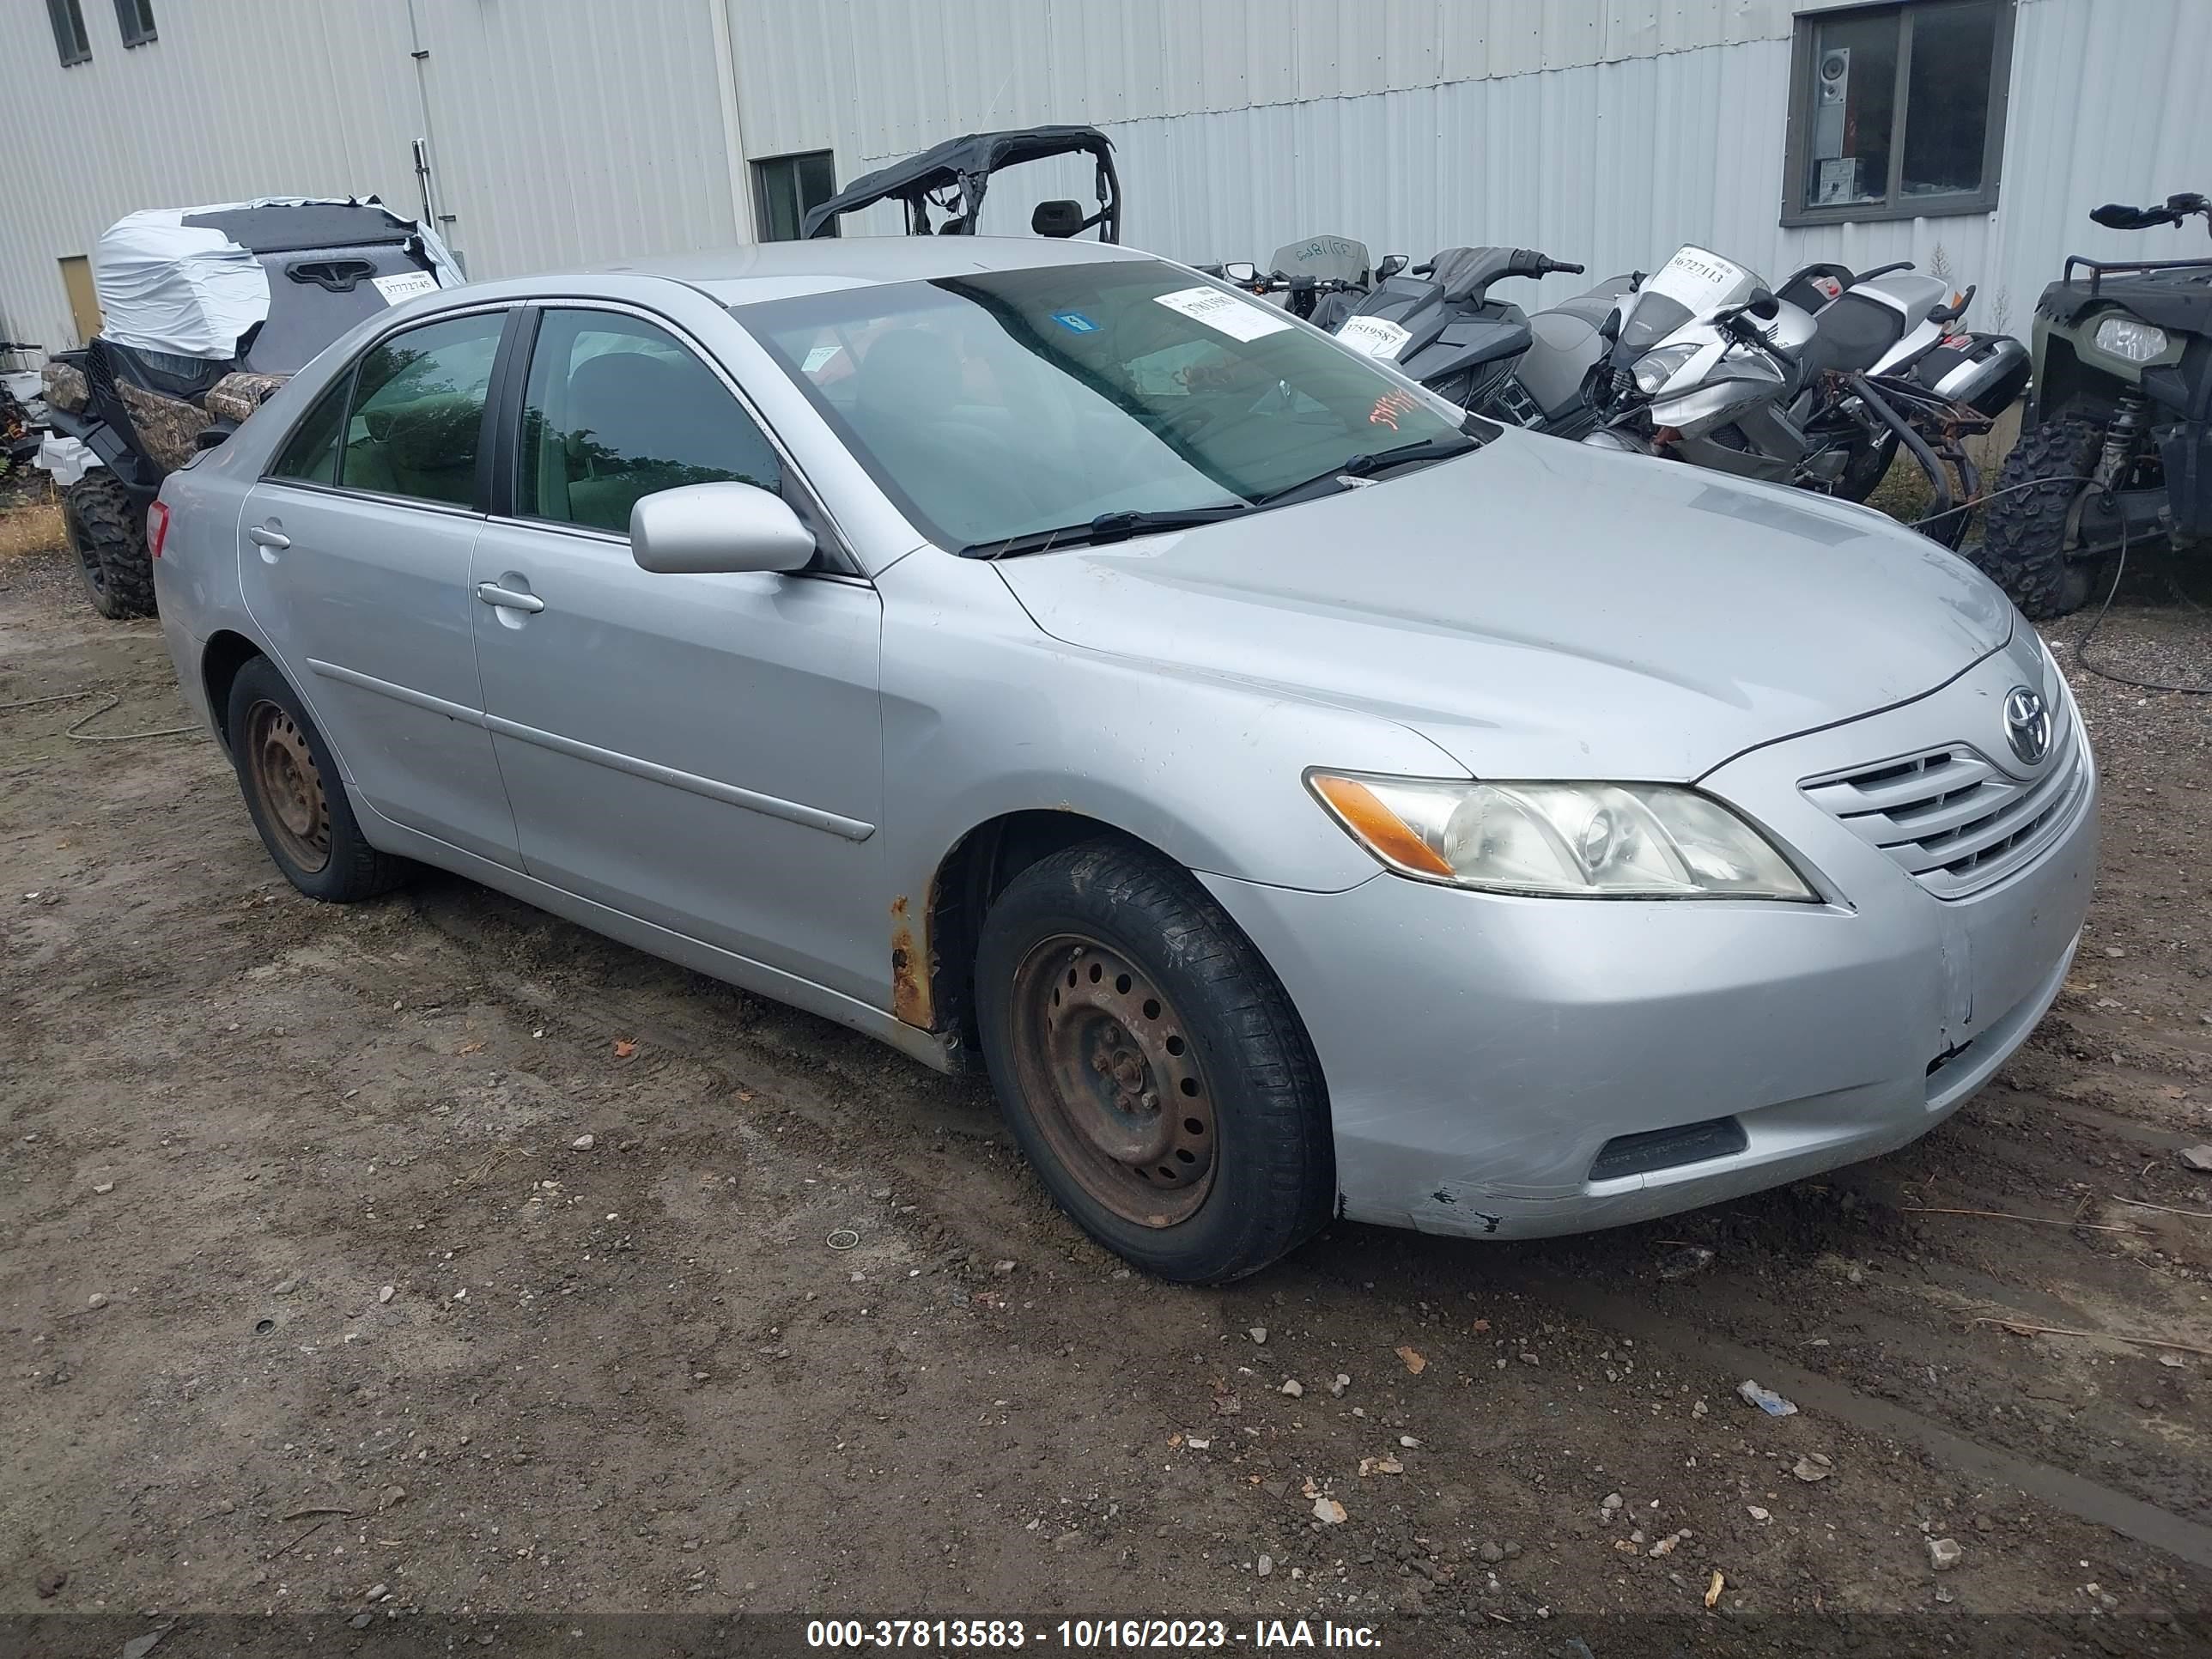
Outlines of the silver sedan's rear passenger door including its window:
{"label": "silver sedan's rear passenger door including its window", "polygon": [[469,593],[507,319],[438,316],[369,347],[248,493],[239,586],[361,801],[520,867]]}

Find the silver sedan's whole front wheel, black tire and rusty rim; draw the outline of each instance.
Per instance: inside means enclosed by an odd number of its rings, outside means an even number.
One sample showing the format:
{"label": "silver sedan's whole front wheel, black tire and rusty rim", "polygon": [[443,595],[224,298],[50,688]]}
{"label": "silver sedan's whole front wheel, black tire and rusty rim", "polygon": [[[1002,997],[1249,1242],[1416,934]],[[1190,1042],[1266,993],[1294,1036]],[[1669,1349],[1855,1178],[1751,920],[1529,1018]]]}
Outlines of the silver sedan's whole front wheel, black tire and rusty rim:
{"label": "silver sedan's whole front wheel, black tire and rusty rim", "polygon": [[1115,1254],[1223,1283],[1329,1219],[1336,1159],[1305,1026],[1186,872],[1119,841],[1031,865],[984,918],[975,993],[1015,1141]]}

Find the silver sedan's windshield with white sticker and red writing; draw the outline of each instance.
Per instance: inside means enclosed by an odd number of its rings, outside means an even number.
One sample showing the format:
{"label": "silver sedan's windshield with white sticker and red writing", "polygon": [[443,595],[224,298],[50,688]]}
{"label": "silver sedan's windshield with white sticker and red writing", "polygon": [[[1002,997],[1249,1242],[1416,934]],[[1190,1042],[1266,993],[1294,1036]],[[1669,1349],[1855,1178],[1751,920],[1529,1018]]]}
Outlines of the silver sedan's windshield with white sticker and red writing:
{"label": "silver sedan's windshield with white sticker and red writing", "polygon": [[[732,307],[931,540],[1121,533],[1462,447],[1449,411],[1283,312],[1157,261]],[[1420,447],[1420,451],[1416,451]],[[1128,515],[1119,522],[1115,515]]]}

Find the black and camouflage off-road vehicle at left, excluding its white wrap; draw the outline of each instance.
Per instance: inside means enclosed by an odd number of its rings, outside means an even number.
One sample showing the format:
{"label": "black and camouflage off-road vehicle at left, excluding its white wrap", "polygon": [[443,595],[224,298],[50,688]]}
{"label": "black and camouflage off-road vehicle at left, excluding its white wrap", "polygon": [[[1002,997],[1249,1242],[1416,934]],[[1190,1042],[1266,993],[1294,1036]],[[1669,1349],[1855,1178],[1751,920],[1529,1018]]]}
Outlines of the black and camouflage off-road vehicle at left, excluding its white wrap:
{"label": "black and camouflage off-road vehicle at left, excluding its white wrap", "polygon": [[[221,232],[252,254],[268,276],[268,310],[228,356],[195,356],[108,338],[117,305],[104,294],[102,334],[46,363],[53,429],[100,458],[62,495],[62,524],[104,617],[153,615],[146,509],[168,473],[237,431],[354,323],[438,288],[440,270],[458,281],[436,239],[376,197],[188,208],[175,223]],[[95,281],[97,270],[95,257]]]}

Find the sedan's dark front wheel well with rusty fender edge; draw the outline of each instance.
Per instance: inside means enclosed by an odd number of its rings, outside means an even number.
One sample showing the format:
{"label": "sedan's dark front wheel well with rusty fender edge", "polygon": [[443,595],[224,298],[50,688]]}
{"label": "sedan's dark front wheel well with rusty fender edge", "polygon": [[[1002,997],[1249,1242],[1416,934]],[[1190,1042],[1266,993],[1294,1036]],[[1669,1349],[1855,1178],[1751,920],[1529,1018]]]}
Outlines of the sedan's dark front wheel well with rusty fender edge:
{"label": "sedan's dark front wheel well with rusty fender edge", "polygon": [[891,993],[898,1015],[947,1033],[956,1053],[973,1053],[975,940],[982,933],[984,911],[1006,891],[1006,883],[1040,858],[1102,836],[1144,847],[1159,858],[1168,856],[1152,843],[1082,812],[1006,812],[960,836],[929,883],[927,991],[911,969],[907,900],[891,905]]}

